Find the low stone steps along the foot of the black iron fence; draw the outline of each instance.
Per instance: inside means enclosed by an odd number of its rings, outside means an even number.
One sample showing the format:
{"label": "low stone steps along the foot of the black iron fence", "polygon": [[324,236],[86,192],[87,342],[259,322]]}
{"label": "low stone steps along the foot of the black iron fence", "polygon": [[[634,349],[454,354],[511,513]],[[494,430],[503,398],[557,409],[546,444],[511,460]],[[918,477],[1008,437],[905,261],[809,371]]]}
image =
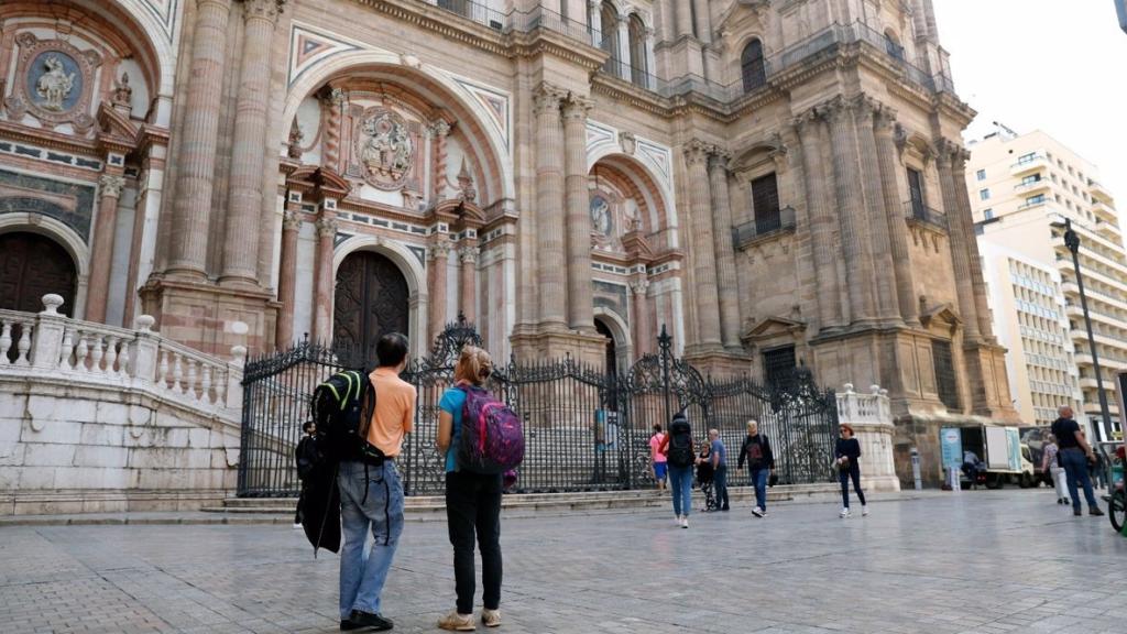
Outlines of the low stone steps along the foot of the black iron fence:
{"label": "low stone steps along the foot of the black iron fence", "polygon": [[[840,494],[836,484],[801,484],[780,485],[767,490],[769,503],[790,502],[798,500],[822,501],[836,499]],[[751,507],[755,493],[749,486],[728,488],[734,505]],[[592,493],[524,493],[505,495],[502,499],[502,511],[505,517],[529,517],[534,514],[558,514],[566,512],[603,512],[668,508],[672,495],[668,491],[603,491]],[[211,513],[232,516],[285,516],[293,517],[296,497],[227,497],[220,507],[201,509]],[[693,508],[703,507],[704,500],[700,492],[693,492]],[[412,495],[405,501],[407,518],[415,521],[445,520],[445,500],[441,495]]]}

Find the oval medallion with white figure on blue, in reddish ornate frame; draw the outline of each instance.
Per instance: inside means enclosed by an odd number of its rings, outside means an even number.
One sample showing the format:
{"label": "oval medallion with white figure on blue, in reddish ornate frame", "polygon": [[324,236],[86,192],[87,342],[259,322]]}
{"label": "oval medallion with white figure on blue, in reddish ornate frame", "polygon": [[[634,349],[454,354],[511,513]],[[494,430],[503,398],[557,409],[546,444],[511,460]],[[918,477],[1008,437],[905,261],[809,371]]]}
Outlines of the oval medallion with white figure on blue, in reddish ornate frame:
{"label": "oval medallion with white figure on blue, in reddish ornate frame", "polygon": [[94,77],[101,55],[61,39],[39,39],[29,32],[17,35],[16,43],[20,49],[16,77],[20,79],[5,103],[9,115],[19,118],[27,113],[47,127],[71,123],[78,132],[89,130]]}

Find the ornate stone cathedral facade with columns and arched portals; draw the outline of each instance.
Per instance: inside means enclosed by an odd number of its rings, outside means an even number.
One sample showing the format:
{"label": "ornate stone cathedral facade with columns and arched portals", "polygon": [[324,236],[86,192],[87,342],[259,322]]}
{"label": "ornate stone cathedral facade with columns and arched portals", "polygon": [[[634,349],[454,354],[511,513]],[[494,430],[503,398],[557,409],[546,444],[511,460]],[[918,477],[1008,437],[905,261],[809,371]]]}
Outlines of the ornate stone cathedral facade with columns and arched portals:
{"label": "ornate stone cathedral facade with columns and arched portals", "polygon": [[1014,416],[931,0],[16,0],[0,69],[2,308]]}

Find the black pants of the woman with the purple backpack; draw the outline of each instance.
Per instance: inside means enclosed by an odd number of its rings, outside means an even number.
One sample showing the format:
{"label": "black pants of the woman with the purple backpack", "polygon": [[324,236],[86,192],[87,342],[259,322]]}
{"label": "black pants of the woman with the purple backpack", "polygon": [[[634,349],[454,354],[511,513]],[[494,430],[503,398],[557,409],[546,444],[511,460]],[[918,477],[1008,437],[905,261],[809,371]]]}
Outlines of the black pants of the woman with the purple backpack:
{"label": "black pants of the woman with the purple backpack", "polygon": [[473,540],[481,549],[482,602],[486,609],[500,606],[500,475],[465,472],[446,474],[446,523],[454,546],[454,589],[459,614],[473,613],[477,573]]}

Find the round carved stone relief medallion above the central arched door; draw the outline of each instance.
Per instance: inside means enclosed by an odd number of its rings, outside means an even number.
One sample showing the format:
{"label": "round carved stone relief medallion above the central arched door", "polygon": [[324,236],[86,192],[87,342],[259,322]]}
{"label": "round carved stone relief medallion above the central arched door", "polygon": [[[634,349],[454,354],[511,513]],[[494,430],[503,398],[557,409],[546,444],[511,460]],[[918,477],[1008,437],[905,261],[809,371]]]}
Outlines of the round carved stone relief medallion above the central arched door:
{"label": "round carved stone relief medallion above the central arched door", "polygon": [[355,144],[370,185],[381,190],[402,186],[415,159],[415,142],[401,116],[381,107],[364,111]]}

